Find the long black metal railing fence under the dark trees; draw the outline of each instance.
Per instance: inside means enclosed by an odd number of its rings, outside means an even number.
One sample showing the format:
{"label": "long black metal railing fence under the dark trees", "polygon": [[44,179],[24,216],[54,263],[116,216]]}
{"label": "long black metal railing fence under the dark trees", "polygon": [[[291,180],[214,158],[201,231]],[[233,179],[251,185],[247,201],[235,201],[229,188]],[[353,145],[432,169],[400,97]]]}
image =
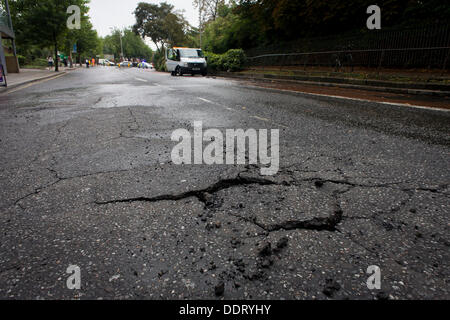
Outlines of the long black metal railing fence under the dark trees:
{"label": "long black metal railing fence under the dark trees", "polygon": [[450,68],[450,26],[366,31],[248,50],[250,67]]}

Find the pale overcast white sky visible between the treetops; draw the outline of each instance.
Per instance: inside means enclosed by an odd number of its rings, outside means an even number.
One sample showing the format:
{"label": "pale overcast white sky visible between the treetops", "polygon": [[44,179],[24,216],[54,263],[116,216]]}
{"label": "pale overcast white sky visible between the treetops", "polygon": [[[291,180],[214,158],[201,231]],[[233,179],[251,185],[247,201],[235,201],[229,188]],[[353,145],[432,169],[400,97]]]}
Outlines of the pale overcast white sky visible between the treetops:
{"label": "pale overcast white sky visible between the treetops", "polygon": [[[89,16],[92,24],[102,37],[111,33],[110,28],[123,29],[135,23],[134,10],[139,2],[160,3],[159,0],[91,0]],[[165,0],[175,6],[175,10],[184,10],[184,16],[193,26],[198,26],[198,12],[192,6],[192,0]]]}

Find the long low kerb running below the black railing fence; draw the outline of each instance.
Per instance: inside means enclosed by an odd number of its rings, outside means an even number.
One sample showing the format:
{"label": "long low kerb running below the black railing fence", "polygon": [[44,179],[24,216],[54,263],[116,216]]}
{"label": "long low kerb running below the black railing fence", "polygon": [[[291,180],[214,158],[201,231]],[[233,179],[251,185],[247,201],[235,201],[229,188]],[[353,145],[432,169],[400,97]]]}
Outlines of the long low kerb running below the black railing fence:
{"label": "long low kerb running below the black railing fence", "polygon": [[[359,89],[366,91],[376,91],[376,92],[389,92],[396,94],[413,94],[413,95],[426,95],[426,96],[436,96],[436,97],[450,97],[450,91],[441,91],[441,90],[429,90],[429,89],[418,89],[418,88],[400,88],[400,87],[383,87],[379,86],[379,84],[390,84],[388,82],[377,82],[378,85],[373,85],[375,82],[366,81],[367,85],[359,85],[353,83],[343,83],[343,82],[323,82],[324,78],[317,78],[317,81],[306,81],[306,80],[296,80],[294,77],[292,79],[286,79],[286,77],[275,77],[272,75],[262,75],[262,76],[246,76],[239,75],[233,73],[218,73],[216,74],[218,77],[225,78],[233,78],[233,79],[242,79],[242,80],[252,80],[252,81],[261,81],[261,82],[278,82],[278,83],[288,83],[288,84],[305,84],[305,85],[313,85],[320,87],[337,87],[337,88],[346,88],[346,89]],[[346,79],[337,79],[337,80],[346,80]],[[352,80],[352,79],[347,79]],[[375,81],[375,80],[374,80]],[[405,85],[406,84],[398,84],[393,83],[392,85]],[[436,86],[436,85],[430,85]],[[445,89],[450,86],[444,85]],[[450,88],[449,88],[450,89]]]}

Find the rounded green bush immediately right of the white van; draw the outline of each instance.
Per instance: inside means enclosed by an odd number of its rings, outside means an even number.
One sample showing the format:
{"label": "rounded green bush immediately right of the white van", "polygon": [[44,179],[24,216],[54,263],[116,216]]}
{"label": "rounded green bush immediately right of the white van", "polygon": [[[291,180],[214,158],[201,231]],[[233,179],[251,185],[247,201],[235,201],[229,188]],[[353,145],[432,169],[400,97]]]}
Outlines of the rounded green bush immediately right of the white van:
{"label": "rounded green bush immediately right of the white van", "polygon": [[244,69],[247,57],[242,49],[231,49],[224,54],[208,52],[208,69],[211,72],[226,71],[235,72]]}

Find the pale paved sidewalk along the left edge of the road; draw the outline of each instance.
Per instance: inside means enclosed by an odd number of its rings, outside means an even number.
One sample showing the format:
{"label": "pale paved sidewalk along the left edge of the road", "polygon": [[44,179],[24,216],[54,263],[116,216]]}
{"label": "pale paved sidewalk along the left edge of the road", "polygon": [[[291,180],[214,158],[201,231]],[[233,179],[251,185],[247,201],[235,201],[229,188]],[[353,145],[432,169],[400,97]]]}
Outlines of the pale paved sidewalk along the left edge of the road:
{"label": "pale paved sidewalk along the left edge of the road", "polygon": [[54,70],[40,70],[40,69],[21,69],[20,73],[9,73],[6,76],[6,80],[8,82],[8,87],[0,87],[0,93],[6,92],[7,90],[11,90],[13,88],[17,88],[22,85],[26,85],[32,82],[51,79],[62,74],[65,74],[67,71],[75,70],[75,68],[60,68],[59,72],[55,72]]}

